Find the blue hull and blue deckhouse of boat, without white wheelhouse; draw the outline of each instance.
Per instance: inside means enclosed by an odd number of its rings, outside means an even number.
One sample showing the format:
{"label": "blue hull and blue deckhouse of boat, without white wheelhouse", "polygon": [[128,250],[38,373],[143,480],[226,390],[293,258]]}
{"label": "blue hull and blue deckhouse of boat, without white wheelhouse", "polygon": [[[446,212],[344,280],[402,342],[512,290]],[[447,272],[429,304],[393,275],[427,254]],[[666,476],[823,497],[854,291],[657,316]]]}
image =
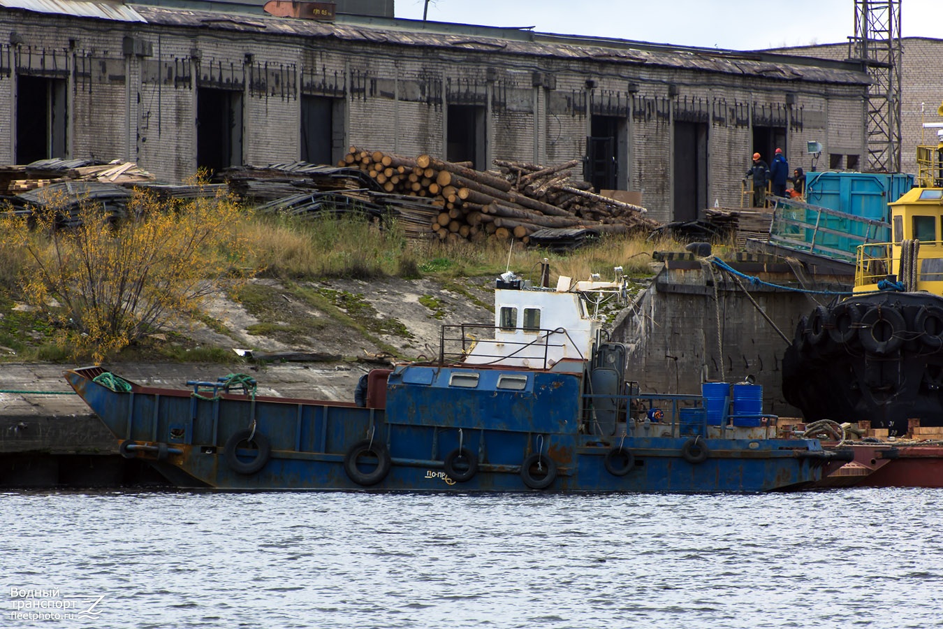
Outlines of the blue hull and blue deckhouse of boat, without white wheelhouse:
{"label": "blue hull and blue deckhouse of boat, without white wheelhouse", "polygon": [[[394,372],[384,408],[134,383],[113,390],[95,381],[106,373],[98,367],[65,375],[124,455],[186,488],[762,492],[809,487],[834,458],[815,439],[693,438],[668,424],[657,433],[666,436],[634,436],[618,422],[609,437],[583,434],[580,408],[570,407],[581,382],[573,373],[504,370],[482,378],[517,378],[513,390],[429,394],[467,371]],[[471,473],[461,455],[474,459]]]}

